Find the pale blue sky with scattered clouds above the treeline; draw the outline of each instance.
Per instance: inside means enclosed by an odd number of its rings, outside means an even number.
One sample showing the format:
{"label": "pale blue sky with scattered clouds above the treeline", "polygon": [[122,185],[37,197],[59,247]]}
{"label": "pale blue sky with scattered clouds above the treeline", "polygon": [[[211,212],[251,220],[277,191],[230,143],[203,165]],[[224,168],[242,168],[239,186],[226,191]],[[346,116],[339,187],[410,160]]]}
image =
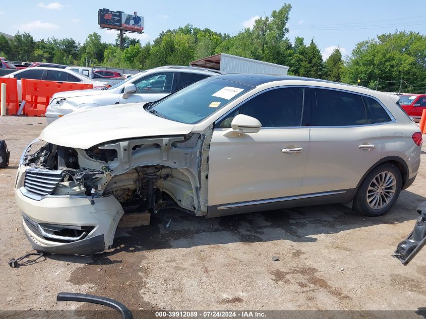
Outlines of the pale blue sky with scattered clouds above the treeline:
{"label": "pale blue sky with scattered clouds above the treeline", "polygon": [[[335,46],[349,54],[359,41],[375,38],[380,33],[412,30],[426,33],[426,1],[288,1],[292,5],[288,28],[289,38],[313,37],[327,57]],[[162,30],[186,24],[214,31],[237,34],[249,27],[256,17],[270,15],[281,8],[282,1],[29,1],[19,0],[19,6],[8,1],[0,6],[0,31],[15,34],[18,30],[29,32],[36,39],[71,37],[84,42],[94,31],[105,42],[113,42],[117,31],[99,29],[97,10],[108,8],[127,13],[137,11],[145,19],[145,34],[135,35],[142,43],[154,40]],[[423,13],[423,15],[421,14]],[[0,48],[1,49],[1,48]]]}

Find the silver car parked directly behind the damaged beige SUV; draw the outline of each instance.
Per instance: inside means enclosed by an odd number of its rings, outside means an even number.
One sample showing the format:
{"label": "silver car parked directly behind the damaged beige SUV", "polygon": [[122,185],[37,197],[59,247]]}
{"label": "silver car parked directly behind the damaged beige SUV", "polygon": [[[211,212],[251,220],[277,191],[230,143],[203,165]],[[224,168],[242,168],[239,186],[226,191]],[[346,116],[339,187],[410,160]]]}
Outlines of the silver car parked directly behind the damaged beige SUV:
{"label": "silver car parked directly behind the damaged beige SUV", "polygon": [[70,91],[53,95],[46,109],[47,123],[71,112],[110,104],[153,102],[219,71],[166,66],[143,71],[102,91]]}

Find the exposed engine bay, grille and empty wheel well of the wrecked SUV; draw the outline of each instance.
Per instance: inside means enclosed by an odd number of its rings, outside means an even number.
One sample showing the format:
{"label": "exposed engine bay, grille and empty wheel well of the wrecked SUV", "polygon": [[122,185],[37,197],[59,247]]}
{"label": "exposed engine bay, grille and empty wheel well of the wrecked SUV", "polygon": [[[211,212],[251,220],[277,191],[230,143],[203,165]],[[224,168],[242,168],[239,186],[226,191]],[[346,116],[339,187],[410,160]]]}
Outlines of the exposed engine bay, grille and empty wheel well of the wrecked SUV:
{"label": "exposed engine bay, grille and empty wheel well of the wrecked SUV", "polygon": [[[87,150],[39,141],[38,149],[33,143],[23,155],[22,164],[29,167],[23,186],[36,200],[87,197],[94,204],[113,196],[125,213],[157,213],[174,205],[206,215],[208,149],[201,154],[203,142],[199,133],[107,142]],[[53,177],[38,178],[42,172],[57,173],[57,184],[52,186]]]}

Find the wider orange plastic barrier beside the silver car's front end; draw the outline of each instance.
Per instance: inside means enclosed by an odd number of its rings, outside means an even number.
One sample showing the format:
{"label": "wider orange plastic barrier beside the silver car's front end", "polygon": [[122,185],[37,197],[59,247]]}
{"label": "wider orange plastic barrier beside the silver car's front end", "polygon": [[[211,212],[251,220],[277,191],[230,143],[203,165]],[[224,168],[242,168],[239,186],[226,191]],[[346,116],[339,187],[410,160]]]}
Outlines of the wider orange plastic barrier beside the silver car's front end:
{"label": "wider orange plastic barrier beside the silver car's front end", "polygon": [[50,98],[57,92],[93,89],[92,84],[22,79],[23,114],[44,116]]}

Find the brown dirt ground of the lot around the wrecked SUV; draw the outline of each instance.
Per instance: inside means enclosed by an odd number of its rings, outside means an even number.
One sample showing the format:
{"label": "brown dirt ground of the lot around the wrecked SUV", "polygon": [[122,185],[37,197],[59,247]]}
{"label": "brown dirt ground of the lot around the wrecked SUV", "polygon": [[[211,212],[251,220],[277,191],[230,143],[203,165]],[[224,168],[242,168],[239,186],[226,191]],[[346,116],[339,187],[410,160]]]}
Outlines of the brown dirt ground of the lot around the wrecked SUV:
{"label": "brown dirt ground of the lot around the wrecked SUV", "polygon": [[154,216],[149,226],[119,230],[115,248],[98,256],[51,255],[12,269],[12,257],[32,251],[13,195],[16,168],[23,148],[45,126],[44,118],[0,118],[0,139],[11,151],[9,168],[0,170],[1,310],[103,309],[56,302],[61,291],[117,299],[132,310],[426,306],[426,248],[407,267],[391,257],[418,217],[416,206],[426,201],[424,152],[414,184],[382,217],[343,205],[210,220],[168,211],[168,230]]}

